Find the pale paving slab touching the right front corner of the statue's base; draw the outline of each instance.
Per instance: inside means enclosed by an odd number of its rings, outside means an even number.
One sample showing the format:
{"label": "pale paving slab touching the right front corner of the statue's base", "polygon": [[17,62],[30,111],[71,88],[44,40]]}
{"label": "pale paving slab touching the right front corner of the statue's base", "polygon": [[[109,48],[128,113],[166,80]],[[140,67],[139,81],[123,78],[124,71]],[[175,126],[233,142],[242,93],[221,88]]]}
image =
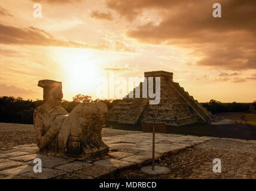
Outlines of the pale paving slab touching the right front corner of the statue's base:
{"label": "pale paving slab touching the right front corner of the statue's base", "polygon": [[95,165],[122,169],[122,168],[132,167],[133,165],[135,165],[135,163],[120,161],[116,159],[106,159],[106,160],[96,161]]}

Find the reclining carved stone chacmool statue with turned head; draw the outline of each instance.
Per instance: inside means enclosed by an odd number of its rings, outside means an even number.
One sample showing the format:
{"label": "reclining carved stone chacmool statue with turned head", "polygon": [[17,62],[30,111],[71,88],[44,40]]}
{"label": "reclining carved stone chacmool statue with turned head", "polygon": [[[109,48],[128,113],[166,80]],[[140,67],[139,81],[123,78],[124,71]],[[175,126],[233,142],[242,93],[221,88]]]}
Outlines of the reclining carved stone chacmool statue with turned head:
{"label": "reclining carved stone chacmool statue with turned head", "polygon": [[33,124],[42,152],[79,158],[108,153],[100,134],[108,113],[106,104],[81,103],[68,113],[61,106],[62,82],[42,80],[38,86],[44,88],[44,103],[35,109]]}

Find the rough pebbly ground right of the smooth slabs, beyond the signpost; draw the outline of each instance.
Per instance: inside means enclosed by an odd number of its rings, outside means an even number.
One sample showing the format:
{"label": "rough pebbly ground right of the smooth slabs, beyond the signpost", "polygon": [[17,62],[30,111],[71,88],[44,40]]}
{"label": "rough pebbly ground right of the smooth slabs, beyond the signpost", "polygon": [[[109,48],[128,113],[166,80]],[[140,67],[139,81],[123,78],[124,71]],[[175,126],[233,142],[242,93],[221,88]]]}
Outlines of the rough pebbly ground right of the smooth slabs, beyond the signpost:
{"label": "rough pebbly ground right of the smooth slabs, beyond the signpost", "polygon": [[[221,173],[212,171],[213,159],[221,159]],[[168,167],[165,175],[148,175],[140,169],[120,172],[118,178],[256,178],[256,141],[217,138],[166,156],[156,165]]]}

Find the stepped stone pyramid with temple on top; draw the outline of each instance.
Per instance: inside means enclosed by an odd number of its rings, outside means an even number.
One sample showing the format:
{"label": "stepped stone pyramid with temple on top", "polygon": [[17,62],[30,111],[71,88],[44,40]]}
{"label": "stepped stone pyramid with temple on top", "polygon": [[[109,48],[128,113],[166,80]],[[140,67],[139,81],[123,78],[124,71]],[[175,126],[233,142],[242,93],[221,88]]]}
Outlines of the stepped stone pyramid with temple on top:
{"label": "stepped stone pyramid with temple on top", "polygon": [[[181,126],[206,122],[211,112],[190,96],[179,83],[173,82],[173,73],[165,71],[145,72],[145,78],[160,77],[160,103],[149,104],[150,98],[123,98],[106,116],[106,123],[118,124],[166,124]],[[135,89],[133,90],[135,93]]]}

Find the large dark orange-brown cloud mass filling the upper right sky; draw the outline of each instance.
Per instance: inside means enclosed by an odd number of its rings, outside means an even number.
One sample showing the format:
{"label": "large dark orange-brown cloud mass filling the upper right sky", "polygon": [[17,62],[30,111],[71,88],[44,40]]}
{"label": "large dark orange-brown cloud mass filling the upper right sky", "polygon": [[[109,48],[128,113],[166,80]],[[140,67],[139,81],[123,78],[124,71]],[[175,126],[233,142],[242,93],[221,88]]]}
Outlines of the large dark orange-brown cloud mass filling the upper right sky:
{"label": "large dark orange-brown cloud mass filling the upper right sky", "polygon": [[106,7],[132,22],[157,11],[159,24],[130,28],[127,37],[155,45],[175,45],[197,57],[193,64],[230,70],[256,69],[256,1],[223,0],[222,17],[212,16],[215,0],[108,0]]}

